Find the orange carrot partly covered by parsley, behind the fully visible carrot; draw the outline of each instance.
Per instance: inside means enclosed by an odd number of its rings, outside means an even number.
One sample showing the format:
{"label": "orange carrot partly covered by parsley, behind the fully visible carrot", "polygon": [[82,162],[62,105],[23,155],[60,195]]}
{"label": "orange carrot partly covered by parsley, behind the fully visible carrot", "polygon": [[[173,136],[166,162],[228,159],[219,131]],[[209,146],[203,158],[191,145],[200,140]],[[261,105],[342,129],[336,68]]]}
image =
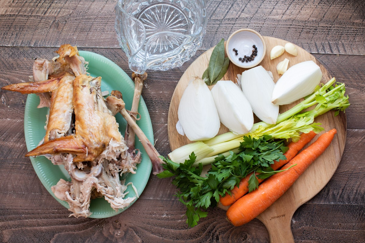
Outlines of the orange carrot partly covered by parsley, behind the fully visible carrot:
{"label": "orange carrot partly covered by parsley, behind the fully visible carrot", "polygon": [[[288,144],[288,151],[284,153],[284,155],[287,159],[274,161],[274,164],[271,165],[271,168],[273,168],[274,171],[276,171],[281,166],[287,164],[287,162],[289,162],[292,158],[294,158],[294,156],[296,156],[296,154],[304,146],[306,146],[306,144],[308,144],[308,142],[310,142],[312,140],[312,138],[314,138],[315,136],[316,136],[316,133],[313,131],[311,131],[309,133],[302,133],[300,135],[299,141],[290,142]],[[248,174],[245,178],[242,178],[242,180],[239,183],[239,187],[235,186],[231,190],[231,195],[226,193],[226,195],[224,197],[220,197],[220,199],[219,199],[220,203],[224,206],[228,206],[228,205],[231,205],[232,203],[234,203],[235,201],[237,201],[243,195],[245,195],[249,191],[249,179],[252,174],[253,174],[253,172]],[[255,173],[255,175],[258,175],[258,173]],[[257,180],[258,180],[258,183],[262,182],[261,179],[257,178]]]}

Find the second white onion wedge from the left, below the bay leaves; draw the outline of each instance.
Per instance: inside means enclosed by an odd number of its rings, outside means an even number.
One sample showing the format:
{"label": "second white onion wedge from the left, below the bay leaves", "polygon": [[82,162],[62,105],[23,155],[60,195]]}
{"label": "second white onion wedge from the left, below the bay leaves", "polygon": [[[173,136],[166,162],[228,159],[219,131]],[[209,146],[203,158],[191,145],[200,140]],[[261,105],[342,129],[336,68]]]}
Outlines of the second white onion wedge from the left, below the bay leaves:
{"label": "second white onion wedge from the left, below the bay leaves", "polygon": [[230,80],[220,80],[211,93],[220,122],[233,133],[248,133],[253,126],[253,113],[242,90]]}

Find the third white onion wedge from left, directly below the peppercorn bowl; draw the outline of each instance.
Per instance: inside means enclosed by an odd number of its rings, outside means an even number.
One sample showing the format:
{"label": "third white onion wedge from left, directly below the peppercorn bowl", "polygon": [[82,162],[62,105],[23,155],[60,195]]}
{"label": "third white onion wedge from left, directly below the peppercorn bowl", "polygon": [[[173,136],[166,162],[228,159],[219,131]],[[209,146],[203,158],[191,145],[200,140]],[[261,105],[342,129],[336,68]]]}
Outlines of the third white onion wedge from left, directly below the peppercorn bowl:
{"label": "third white onion wedge from left, directly below the peppercorn bowl", "polygon": [[242,72],[241,86],[243,94],[251,104],[253,113],[261,121],[275,124],[279,106],[271,102],[274,81],[262,66]]}

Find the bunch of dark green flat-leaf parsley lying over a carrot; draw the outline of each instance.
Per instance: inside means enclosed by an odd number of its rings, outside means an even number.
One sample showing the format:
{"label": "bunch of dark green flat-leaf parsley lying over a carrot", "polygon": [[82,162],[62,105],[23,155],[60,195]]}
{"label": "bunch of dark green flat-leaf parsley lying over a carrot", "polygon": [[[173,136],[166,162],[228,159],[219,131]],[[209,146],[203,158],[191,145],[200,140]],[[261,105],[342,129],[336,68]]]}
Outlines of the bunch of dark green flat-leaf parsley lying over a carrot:
{"label": "bunch of dark green flat-leaf parsley lying over a carrot", "polygon": [[[270,136],[252,138],[243,137],[240,144],[239,153],[230,151],[230,155],[224,157],[219,155],[212,163],[211,169],[202,176],[203,165],[194,167],[196,160],[194,152],[184,163],[177,164],[168,158],[163,158],[165,171],[159,173],[159,178],[174,177],[172,183],[178,188],[176,196],[179,201],[187,207],[187,223],[190,227],[197,225],[201,217],[206,217],[207,212],[203,211],[210,206],[215,206],[219,202],[219,197],[227,193],[243,177],[255,171],[260,173],[258,177],[265,179],[274,173],[270,164],[275,160],[285,160],[283,153],[287,147],[285,140],[273,140]],[[258,188],[256,176],[249,179],[249,191]]]}

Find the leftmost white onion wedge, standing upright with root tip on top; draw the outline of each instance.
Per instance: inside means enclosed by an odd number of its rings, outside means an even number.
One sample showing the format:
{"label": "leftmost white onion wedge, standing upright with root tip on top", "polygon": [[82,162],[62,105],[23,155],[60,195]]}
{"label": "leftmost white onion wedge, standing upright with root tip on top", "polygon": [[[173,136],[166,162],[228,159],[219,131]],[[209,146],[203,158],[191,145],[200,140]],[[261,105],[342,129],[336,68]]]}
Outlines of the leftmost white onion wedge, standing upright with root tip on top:
{"label": "leftmost white onion wedge, standing upright with root tip on top", "polygon": [[192,80],[184,90],[177,115],[190,141],[204,141],[218,133],[218,111],[208,86],[200,78]]}

